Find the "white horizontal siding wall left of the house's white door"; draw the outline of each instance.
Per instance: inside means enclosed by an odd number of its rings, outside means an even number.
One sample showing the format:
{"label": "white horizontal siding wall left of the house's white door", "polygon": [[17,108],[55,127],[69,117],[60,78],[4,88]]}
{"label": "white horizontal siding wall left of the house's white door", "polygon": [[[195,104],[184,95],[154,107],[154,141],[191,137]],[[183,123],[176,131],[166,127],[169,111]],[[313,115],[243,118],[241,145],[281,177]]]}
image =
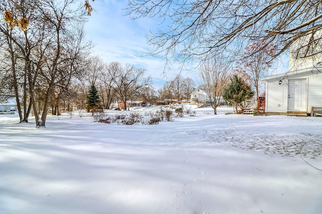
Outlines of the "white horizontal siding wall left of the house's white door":
{"label": "white horizontal siding wall left of the house's white door", "polygon": [[287,112],[287,83],[278,84],[278,80],[267,81],[266,112]]}

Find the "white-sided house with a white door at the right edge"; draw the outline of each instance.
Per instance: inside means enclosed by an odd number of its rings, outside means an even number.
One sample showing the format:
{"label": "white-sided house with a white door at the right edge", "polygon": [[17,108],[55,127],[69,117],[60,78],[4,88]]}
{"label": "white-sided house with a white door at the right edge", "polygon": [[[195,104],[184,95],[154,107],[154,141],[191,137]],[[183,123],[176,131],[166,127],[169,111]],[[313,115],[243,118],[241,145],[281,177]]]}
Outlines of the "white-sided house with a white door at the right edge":
{"label": "white-sided house with a white door at the right edge", "polygon": [[301,48],[291,47],[287,73],[262,79],[266,84],[266,115],[307,116],[312,107],[322,107],[322,55],[298,58],[293,50],[302,53]]}

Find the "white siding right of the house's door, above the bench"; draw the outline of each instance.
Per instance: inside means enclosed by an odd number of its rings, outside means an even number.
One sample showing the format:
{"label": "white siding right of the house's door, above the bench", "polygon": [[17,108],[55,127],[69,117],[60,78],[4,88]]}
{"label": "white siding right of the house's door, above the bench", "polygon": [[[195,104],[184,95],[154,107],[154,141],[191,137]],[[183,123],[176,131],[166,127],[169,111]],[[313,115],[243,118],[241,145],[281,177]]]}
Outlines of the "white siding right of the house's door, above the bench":
{"label": "white siding right of the house's door, above the bench", "polygon": [[322,74],[308,76],[307,112],[311,106],[322,106]]}

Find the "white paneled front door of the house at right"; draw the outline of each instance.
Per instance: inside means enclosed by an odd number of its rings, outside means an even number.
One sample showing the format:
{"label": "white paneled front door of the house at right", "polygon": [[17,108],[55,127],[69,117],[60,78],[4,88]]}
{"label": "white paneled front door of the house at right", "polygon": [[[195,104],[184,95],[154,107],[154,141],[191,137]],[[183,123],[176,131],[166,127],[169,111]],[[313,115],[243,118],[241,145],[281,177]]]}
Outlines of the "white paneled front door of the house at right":
{"label": "white paneled front door of the house at right", "polygon": [[306,111],[306,79],[288,80],[288,111]]}

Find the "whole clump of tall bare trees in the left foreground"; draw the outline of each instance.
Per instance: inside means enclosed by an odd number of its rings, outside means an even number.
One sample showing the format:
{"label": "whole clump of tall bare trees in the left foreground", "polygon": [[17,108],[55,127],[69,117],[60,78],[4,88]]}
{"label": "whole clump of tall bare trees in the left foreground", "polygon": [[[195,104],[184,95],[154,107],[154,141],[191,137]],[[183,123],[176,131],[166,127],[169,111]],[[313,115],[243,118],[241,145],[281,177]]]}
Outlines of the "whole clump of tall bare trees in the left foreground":
{"label": "whole clump of tall bare trees in the left foreground", "polygon": [[[91,43],[86,13],[68,1],[1,1],[1,93],[15,94],[21,122],[45,126],[50,106],[73,97],[86,75]],[[20,104],[22,103],[22,104]],[[58,109],[56,108],[56,111]]]}

